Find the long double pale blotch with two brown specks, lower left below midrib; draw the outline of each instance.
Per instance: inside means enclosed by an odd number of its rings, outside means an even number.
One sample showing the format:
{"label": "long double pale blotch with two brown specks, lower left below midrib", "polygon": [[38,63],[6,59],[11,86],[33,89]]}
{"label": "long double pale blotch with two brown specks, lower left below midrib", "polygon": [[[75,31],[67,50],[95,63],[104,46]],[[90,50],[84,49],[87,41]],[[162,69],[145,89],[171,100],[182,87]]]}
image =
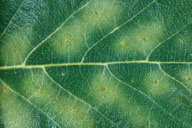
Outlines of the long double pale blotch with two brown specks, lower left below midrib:
{"label": "long double pale blotch with two brown specks, lower left below midrib", "polygon": [[77,99],[48,80],[42,72],[29,75],[22,85],[23,94],[38,106],[46,106],[53,112],[54,120],[57,120],[61,126],[78,128],[94,126],[87,105],[77,103]]}

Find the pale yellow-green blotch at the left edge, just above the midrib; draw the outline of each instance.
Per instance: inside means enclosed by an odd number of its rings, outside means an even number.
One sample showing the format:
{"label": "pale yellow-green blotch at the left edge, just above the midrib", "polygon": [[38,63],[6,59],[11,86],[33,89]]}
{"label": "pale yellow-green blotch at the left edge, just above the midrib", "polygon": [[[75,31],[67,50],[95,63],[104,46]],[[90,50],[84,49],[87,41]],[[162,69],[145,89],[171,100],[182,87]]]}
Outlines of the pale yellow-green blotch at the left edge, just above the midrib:
{"label": "pale yellow-green blotch at the left edge, just above the midrib", "polygon": [[22,64],[32,49],[30,44],[32,35],[33,30],[29,25],[5,34],[0,41],[1,63],[3,65]]}

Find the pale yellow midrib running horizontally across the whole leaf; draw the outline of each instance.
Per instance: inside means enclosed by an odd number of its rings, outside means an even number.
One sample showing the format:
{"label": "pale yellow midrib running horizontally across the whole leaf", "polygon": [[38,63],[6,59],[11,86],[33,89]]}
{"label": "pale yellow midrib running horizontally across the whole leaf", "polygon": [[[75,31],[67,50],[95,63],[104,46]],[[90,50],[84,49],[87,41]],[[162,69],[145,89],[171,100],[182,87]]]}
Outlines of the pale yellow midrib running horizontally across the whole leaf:
{"label": "pale yellow midrib running horizontally across the whole leaf", "polygon": [[40,64],[40,65],[13,65],[1,66],[3,69],[19,69],[19,68],[45,68],[45,67],[59,67],[59,66],[106,66],[115,64],[192,64],[192,62],[179,62],[179,61],[114,61],[114,62],[75,62],[75,63],[59,63],[59,64]]}

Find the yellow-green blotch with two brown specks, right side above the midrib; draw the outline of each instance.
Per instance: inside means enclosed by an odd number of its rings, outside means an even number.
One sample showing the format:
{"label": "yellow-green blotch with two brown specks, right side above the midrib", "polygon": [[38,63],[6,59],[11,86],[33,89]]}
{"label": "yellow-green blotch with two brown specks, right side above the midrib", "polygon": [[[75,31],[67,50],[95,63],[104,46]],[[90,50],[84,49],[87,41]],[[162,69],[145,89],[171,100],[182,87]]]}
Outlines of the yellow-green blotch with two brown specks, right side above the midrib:
{"label": "yellow-green blotch with two brown specks, right side above the midrib", "polygon": [[120,55],[139,53],[147,56],[164,35],[164,25],[160,22],[141,24],[127,29],[113,45]]}

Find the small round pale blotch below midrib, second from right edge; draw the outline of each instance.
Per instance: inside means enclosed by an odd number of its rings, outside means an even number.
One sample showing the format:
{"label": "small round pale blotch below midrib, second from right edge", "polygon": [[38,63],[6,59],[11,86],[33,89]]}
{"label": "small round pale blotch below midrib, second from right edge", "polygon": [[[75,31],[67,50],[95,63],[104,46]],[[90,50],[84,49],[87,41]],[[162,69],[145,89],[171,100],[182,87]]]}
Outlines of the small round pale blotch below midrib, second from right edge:
{"label": "small round pale blotch below midrib, second from right edge", "polygon": [[171,92],[170,80],[159,70],[148,72],[143,78],[143,85],[154,96]]}

